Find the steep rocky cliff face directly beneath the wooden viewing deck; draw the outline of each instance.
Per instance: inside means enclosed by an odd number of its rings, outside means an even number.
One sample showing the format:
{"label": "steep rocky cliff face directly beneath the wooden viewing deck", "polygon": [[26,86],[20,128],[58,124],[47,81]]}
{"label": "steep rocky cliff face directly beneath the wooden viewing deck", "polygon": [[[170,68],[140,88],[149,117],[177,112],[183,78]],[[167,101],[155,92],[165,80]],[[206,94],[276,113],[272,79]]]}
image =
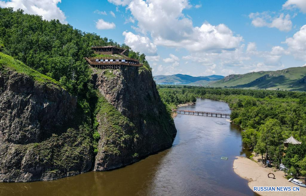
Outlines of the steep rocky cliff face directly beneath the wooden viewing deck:
{"label": "steep rocky cliff face directly beneath the wooden viewing deck", "polygon": [[177,131],[151,72],[131,67],[104,70],[94,73],[92,81],[107,100],[101,101],[103,109],[113,111],[108,115],[102,110],[96,116],[101,137],[95,171],[130,164],[172,145]]}

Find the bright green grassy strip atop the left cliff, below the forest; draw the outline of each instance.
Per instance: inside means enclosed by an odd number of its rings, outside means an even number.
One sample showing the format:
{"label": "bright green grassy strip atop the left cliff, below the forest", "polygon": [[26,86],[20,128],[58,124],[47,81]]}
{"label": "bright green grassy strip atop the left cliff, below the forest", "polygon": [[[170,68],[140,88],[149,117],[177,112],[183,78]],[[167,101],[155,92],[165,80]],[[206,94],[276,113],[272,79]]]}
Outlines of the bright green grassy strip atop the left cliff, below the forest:
{"label": "bright green grassy strip atop the left cliff, below the forest", "polygon": [[2,52],[0,52],[0,70],[3,71],[15,71],[17,73],[22,73],[27,76],[30,76],[33,80],[39,82],[39,83],[49,83],[49,84],[56,84],[57,86],[60,86],[59,82],[46,76],[38,71],[35,71],[34,69],[28,67],[27,65],[24,65],[19,60],[14,59],[13,57],[6,55]]}

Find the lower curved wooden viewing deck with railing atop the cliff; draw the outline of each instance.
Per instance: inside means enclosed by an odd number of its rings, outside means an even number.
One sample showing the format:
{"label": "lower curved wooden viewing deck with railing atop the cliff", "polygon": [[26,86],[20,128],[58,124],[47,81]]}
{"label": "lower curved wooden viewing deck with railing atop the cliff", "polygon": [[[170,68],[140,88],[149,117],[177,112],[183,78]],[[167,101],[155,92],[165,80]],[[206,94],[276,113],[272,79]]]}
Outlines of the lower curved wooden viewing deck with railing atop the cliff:
{"label": "lower curved wooden viewing deck with railing atop the cliff", "polygon": [[[99,68],[99,69],[121,69],[121,68],[126,68],[127,66],[130,67],[142,67],[143,64],[140,64],[139,61],[137,62],[134,59],[114,59],[114,60],[118,60],[118,61],[98,61],[96,62],[96,60],[100,60],[101,58],[88,58],[85,57],[85,60],[89,63],[89,65],[91,65],[92,67],[95,68]],[[102,58],[103,60],[107,59],[107,60],[113,60],[112,58]],[[120,61],[119,61],[120,60]],[[125,60],[126,62],[122,62],[122,60]]]}

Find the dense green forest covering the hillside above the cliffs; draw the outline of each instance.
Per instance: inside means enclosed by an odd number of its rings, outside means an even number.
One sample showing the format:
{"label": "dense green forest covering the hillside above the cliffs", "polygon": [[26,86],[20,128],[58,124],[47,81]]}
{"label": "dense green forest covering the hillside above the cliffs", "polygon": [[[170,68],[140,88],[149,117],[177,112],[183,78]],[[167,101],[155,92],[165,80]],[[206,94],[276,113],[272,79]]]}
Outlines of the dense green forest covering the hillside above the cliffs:
{"label": "dense green forest covering the hillside above the cliffs", "polygon": [[129,57],[151,70],[145,54],[125,44],[82,32],[59,20],[24,14],[21,9],[0,8],[0,51],[53,78],[78,97],[86,97],[86,89],[90,88],[90,69],[84,57],[94,56],[91,46],[123,47],[128,49]]}

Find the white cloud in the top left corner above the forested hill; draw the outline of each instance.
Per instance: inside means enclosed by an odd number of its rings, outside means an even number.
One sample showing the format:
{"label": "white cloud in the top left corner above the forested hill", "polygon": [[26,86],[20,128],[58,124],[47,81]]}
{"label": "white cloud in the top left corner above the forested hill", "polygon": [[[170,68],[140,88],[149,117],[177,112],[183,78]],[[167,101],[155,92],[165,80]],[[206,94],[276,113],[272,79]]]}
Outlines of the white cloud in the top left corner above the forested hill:
{"label": "white cloud in the top left corner above the forested hill", "polygon": [[37,14],[45,20],[58,19],[67,24],[64,12],[57,6],[61,0],[11,0],[0,1],[0,7],[13,7],[14,10],[23,9],[24,13]]}

